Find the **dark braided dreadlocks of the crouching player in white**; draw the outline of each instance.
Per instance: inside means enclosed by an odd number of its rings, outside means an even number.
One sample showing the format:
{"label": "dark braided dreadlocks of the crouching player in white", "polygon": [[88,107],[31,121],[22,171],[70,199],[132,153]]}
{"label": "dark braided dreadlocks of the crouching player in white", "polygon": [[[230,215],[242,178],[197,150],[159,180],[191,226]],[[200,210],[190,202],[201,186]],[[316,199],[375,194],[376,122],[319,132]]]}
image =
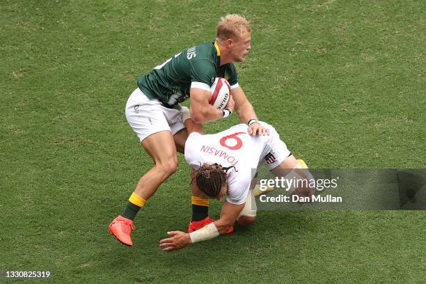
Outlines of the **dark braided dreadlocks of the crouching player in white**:
{"label": "dark braided dreadlocks of the crouching player in white", "polygon": [[191,182],[196,182],[197,187],[207,196],[216,197],[226,184],[226,173],[235,166],[223,167],[220,164],[203,164],[198,170],[191,173]]}

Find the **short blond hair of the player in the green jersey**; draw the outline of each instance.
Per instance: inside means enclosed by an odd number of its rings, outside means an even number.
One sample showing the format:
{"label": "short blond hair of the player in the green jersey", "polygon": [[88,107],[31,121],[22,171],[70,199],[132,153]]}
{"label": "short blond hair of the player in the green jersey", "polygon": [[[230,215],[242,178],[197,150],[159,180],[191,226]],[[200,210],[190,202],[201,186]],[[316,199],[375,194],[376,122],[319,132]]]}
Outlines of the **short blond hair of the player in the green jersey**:
{"label": "short blond hair of the player in the green jersey", "polygon": [[216,40],[238,39],[243,33],[251,33],[251,26],[245,17],[237,14],[228,14],[221,17],[217,26]]}

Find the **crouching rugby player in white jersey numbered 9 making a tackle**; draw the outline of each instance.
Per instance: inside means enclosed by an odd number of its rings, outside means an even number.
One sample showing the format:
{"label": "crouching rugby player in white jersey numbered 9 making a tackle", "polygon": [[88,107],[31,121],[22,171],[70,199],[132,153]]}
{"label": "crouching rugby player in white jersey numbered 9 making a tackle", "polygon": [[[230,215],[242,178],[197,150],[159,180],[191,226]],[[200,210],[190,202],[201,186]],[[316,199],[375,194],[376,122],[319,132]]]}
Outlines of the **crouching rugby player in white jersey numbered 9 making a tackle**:
{"label": "crouching rugby player in white jersey numbered 9 making a tackle", "polygon": [[[242,226],[253,223],[256,219],[253,178],[260,164],[265,164],[278,177],[291,176],[300,181],[313,178],[290,153],[274,127],[259,123],[269,129],[269,136],[251,136],[244,124],[203,135],[202,125],[185,120],[190,133],[185,143],[185,159],[194,168],[191,174],[193,196],[220,200],[226,194],[226,201],[219,220],[206,216],[198,221],[195,230],[191,230],[192,222],[188,233],[167,232],[171,237],[161,239],[159,244],[163,251],[175,251],[232,232],[235,221]],[[298,196],[314,194],[315,188],[303,187],[309,182],[300,184],[290,192]]]}

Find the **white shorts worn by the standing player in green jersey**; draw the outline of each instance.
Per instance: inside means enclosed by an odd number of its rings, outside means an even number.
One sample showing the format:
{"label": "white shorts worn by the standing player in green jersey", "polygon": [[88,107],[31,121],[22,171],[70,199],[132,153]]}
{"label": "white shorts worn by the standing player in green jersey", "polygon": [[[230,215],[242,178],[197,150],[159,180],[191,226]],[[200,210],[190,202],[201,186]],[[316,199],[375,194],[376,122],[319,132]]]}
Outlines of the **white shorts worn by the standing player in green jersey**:
{"label": "white shorts worn by the standing player in green jersey", "polygon": [[127,100],[125,113],[141,142],[151,134],[168,130],[175,135],[185,127],[180,105],[174,109],[163,107],[159,100],[150,100],[139,88]]}

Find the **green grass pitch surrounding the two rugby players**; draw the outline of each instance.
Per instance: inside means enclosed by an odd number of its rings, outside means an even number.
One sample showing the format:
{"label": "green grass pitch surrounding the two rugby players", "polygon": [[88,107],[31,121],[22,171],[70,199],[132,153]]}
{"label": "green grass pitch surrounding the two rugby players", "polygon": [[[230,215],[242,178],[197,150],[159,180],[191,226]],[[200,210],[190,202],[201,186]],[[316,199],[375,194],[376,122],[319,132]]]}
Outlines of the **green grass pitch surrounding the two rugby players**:
{"label": "green grass pitch surrounding the two rugby players", "polygon": [[0,270],[50,270],[52,283],[425,283],[424,211],[261,211],[251,228],[163,253],[159,239],[191,214],[182,155],[136,217],[134,247],[107,231],[152,166],[124,115],[136,78],[214,40],[227,13],[253,27],[240,84],[296,157],[311,168],[425,168],[425,9],[1,1]]}

